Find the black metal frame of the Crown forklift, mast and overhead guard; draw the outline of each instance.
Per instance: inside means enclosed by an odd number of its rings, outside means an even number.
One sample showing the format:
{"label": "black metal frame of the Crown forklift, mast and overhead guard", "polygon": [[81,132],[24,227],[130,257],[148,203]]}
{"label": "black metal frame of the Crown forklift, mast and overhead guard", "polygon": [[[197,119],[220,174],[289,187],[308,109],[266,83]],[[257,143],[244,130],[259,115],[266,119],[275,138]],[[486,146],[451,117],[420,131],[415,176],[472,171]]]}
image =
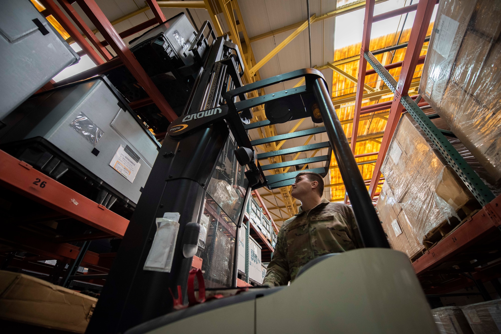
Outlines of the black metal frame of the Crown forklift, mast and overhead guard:
{"label": "black metal frame of the Crown forklift, mast and overhead guard", "polygon": [[[124,332],[139,323],[173,311],[169,288],[177,291],[177,285],[181,285],[183,299],[186,299],[192,258],[183,257],[183,233],[187,223],[198,222],[208,182],[229,135],[228,127],[238,146],[254,150],[244,127],[252,118],[250,108],[279,98],[301,94],[315,97],[352,202],[364,246],[389,248],[322,73],[305,68],[242,86],[235,61],[243,66],[238,52],[225,59],[222,56],[225,54],[223,51],[233,48],[233,45],[227,36],[214,41],[203,70],[199,73],[200,79],[197,78],[197,82],[206,85],[194,87],[185,107],[187,112],[169,125],[87,333]],[[224,62],[224,68],[229,69],[228,74],[236,88],[224,94],[227,104],[219,104],[218,99],[210,109],[200,110],[199,106],[206,102],[208,87],[214,84],[214,65],[217,62]],[[300,77],[305,77],[306,85],[250,99],[245,97],[246,92]],[[217,84],[217,89],[220,89],[220,84]],[[236,96],[239,96],[240,101],[235,101]],[[312,110],[304,111],[306,114],[303,117],[312,115]],[[247,164],[247,169],[259,173],[260,177],[252,189],[267,185],[256,154],[254,156]],[[155,218],[162,217],[164,212],[180,213],[172,268],[170,272],[144,270],[143,265],[156,232]]]}

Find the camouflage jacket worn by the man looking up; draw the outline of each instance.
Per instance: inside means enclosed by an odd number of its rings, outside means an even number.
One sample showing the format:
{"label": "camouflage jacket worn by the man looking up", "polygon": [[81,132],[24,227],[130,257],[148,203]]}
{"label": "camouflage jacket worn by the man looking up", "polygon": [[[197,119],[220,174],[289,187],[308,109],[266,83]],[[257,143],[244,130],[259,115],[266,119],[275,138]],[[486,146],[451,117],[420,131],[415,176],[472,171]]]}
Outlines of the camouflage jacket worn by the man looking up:
{"label": "camouflage jacket worn by the man looking up", "polygon": [[329,253],[362,246],[351,206],[327,199],[309,212],[286,220],[277,236],[273,259],[268,265],[263,285],[285,285],[294,280],[308,261]]}

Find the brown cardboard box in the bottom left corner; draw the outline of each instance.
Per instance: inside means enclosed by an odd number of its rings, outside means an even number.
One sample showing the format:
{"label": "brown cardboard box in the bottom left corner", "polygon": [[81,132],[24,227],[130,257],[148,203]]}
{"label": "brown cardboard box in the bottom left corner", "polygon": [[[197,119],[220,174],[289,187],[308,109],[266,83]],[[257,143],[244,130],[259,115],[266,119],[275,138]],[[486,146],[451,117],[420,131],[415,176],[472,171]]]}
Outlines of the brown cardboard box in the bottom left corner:
{"label": "brown cardboard box in the bottom left corner", "polygon": [[0,318],[85,332],[97,299],[29,275],[0,270]]}

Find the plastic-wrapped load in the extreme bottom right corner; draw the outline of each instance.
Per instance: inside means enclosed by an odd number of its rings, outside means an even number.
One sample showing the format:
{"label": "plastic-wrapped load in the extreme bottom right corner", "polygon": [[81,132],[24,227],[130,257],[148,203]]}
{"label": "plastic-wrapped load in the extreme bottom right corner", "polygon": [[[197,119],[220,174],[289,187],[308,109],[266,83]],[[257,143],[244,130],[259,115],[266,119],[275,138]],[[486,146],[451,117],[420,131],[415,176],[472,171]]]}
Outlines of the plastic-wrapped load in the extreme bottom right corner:
{"label": "plastic-wrapped load in the extreme bottom right corner", "polygon": [[474,334],[501,333],[501,300],[490,300],[462,306]]}

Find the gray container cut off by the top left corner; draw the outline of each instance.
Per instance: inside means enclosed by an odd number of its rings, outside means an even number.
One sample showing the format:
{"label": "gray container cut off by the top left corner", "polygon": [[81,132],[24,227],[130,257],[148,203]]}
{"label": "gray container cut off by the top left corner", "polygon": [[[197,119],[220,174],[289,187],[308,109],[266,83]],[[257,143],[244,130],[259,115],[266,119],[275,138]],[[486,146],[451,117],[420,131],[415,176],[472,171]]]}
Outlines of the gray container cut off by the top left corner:
{"label": "gray container cut off by the top left corner", "polygon": [[30,0],[0,0],[0,119],[80,60]]}

